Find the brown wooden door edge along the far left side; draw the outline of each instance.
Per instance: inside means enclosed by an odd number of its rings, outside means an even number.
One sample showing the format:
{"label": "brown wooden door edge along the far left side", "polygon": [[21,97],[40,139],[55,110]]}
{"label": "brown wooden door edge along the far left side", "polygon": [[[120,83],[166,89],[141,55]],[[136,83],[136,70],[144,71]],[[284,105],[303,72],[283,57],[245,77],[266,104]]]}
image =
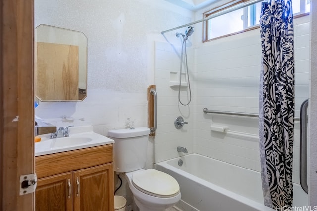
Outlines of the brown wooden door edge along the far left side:
{"label": "brown wooden door edge along the far left side", "polygon": [[0,210],[34,211],[20,195],[34,173],[33,0],[0,0]]}

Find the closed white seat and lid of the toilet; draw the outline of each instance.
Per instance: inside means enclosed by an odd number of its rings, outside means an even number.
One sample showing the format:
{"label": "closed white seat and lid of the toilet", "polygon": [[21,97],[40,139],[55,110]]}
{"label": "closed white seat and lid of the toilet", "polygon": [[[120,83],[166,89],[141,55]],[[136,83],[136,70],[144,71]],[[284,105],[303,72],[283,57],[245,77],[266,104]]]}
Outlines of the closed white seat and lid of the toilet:
{"label": "closed white seat and lid of the toilet", "polygon": [[133,173],[132,183],[141,192],[155,197],[168,198],[179,193],[179,184],[176,179],[155,169]]}

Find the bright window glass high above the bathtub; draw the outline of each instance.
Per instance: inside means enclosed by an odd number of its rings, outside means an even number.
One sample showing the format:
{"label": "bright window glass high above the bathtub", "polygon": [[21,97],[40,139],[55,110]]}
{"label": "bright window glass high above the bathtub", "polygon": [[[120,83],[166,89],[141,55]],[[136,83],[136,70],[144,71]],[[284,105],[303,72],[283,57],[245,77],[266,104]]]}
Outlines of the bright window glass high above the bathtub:
{"label": "bright window glass high above the bathtub", "polygon": [[[247,0],[235,0],[204,13],[204,18],[216,14],[229,7],[241,4]],[[293,0],[293,15],[308,13],[309,0]],[[237,34],[258,27],[261,13],[261,2],[211,18],[204,23],[203,42],[222,36]]]}

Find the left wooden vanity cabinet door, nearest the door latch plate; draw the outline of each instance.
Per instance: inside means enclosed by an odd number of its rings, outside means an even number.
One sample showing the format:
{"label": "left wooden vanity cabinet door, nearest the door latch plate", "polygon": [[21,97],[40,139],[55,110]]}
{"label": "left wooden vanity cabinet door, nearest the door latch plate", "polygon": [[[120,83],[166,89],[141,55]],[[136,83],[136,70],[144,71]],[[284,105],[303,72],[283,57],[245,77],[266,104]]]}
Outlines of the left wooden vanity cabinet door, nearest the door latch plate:
{"label": "left wooden vanity cabinet door, nearest the door latch plate", "polygon": [[35,190],[35,210],[72,211],[72,179],[72,172],[38,179]]}

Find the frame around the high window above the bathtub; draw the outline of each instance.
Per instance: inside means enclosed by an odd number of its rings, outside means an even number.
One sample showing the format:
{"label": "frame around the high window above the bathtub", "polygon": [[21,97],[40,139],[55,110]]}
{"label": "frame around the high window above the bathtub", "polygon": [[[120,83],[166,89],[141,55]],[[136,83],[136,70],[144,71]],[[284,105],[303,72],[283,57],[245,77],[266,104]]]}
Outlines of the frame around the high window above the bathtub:
{"label": "frame around the high window above the bathtub", "polygon": [[[208,10],[206,12],[203,13],[203,18],[206,19],[208,18],[210,15],[212,14],[216,14],[218,12],[221,12],[222,10],[225,10],[225,9],[228,9],[232,6],[235,6],[237,4],[241,4],[241,3],[244,3],[244,2],[247,2],[249,0],[232,0],[226,4],[223,4],[223,5],[220,5],[218,7],[215,7],[211,10]],[[303,2],[305,0],[301,0],[301,6],[300,6],[300,12],[294,14],[294,19],[295,18],[299,18],[299,17],[303,17],[303,16],[306,16],[306,15],[309,15],[309,12],[305,12],[305,5],[303,6]],[[244,7],[244,9],[246,9],[246,7]],[[212,18],[211,18],[212,19]],[[244,27],[246,27],[247,23],[245,23],[244,21]],[[256,25],[253,25],[253,26],[250,26],[250,27],[246,27],[245,29],[243,30],[240,30],[240,31],[237,31],[237,32],[233,32],[233,33],[229,33],[229,34],[225,34],[225,35],[222,35],[222,36],[218,36],[218,37],[215,37],[215,38],[211,38],[211,39],[208,39],[208,21],[203,21],[203,43],[204,42],[209,42],[209,41],[213,41],[213,40],[216,40],[216,39],[220,39],[220,38],[224,38],[224,37],[228,37],[228,36],[231,36],[231,35],[236,35],[236,34],[240,34],[242,32],[247,32],[247,31],[250,31],[250,30],[254,30],[254,29],[258,29],[260,28],[260,25],[259,24],[256,24]]]}

